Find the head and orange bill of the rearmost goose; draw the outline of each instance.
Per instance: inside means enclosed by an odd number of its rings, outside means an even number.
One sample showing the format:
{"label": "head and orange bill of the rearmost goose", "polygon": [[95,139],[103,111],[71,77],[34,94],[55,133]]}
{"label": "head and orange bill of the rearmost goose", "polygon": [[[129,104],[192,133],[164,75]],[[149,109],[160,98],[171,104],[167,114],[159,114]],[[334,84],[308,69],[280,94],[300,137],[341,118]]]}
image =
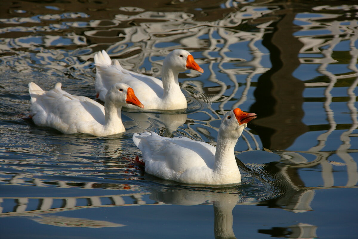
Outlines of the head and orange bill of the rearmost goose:
{"label": "head and orange bill of the rearmost goose", "polygon": [[183,72],[188,69],[204,72],[202,68],[194,61],[194,57],[185,50],[176,49],[168,54],[164,59],[164,65],[167,65],[169,68]]}

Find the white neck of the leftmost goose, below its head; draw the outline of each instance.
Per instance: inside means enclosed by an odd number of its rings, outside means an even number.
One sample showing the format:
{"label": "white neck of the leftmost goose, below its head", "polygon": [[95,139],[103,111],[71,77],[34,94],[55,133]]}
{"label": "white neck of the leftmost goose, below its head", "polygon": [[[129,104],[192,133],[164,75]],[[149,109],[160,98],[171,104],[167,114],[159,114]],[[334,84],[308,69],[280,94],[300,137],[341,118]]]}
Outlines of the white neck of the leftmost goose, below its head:
{"label": "white neck of the leftmost goose, below its head", "polygon": [[110,100],[105,101],[105,125],[104,130],[113,134],[125,131],[121,116],[122,105],[116,105]]}

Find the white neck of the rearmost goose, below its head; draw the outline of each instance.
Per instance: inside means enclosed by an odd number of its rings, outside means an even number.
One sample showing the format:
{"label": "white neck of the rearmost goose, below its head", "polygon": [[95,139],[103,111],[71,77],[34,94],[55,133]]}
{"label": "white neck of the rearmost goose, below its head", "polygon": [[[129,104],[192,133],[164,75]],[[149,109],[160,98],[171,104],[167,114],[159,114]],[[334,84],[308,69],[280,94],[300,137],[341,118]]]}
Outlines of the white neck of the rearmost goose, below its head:
{"label": "white neck of the rearmost goose, below its head", "polygon": [[168,66],[168,64],[163,64],[163,100],[167,101],[168,104],[175,104],[176,101],[185,99],[185,96],[179,86],[178,75],[179,71],[173,70]]}

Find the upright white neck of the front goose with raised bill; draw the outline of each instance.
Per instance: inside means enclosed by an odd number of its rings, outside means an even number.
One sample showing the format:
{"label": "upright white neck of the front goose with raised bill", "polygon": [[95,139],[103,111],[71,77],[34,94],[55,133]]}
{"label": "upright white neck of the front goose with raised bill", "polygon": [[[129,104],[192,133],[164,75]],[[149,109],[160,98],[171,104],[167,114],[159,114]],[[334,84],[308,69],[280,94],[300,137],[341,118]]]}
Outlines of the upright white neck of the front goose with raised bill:
{"label": "upright white neck of the front goose with raised bill", "polygon": [[[237,138],[225,137],[226,132],[219,129],[216,145],[214,172],[220,175],[232,175],[240,173],[234,155]],[[240,136],[239,136],[240,137]]]}

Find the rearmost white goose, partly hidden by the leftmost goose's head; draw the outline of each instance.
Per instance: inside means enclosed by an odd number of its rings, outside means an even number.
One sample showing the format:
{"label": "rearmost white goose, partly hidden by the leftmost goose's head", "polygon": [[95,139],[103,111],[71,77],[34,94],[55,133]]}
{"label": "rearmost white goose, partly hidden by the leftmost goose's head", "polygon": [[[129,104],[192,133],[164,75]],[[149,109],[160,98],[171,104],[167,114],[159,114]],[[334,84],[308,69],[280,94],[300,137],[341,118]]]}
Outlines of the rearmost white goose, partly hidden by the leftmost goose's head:
{"label": "rearmost white goose, partly hidden by the leftmost goose's head", "polygon": [[[151,76],[125,70],[118,60],[113,61],[106,51],[95,55],[97,98],[105,101],[107,90],[113,83],[122,82],[130,85],[145,105],[146,110],[179,110],[187,108],[187,100],[179,87],[179,72],[193,69],[201,73],[202,68],[193,56],[185,50],[174,50],[165,57],[162,81]],[[132,105],[124,107],[136,109]]]}

